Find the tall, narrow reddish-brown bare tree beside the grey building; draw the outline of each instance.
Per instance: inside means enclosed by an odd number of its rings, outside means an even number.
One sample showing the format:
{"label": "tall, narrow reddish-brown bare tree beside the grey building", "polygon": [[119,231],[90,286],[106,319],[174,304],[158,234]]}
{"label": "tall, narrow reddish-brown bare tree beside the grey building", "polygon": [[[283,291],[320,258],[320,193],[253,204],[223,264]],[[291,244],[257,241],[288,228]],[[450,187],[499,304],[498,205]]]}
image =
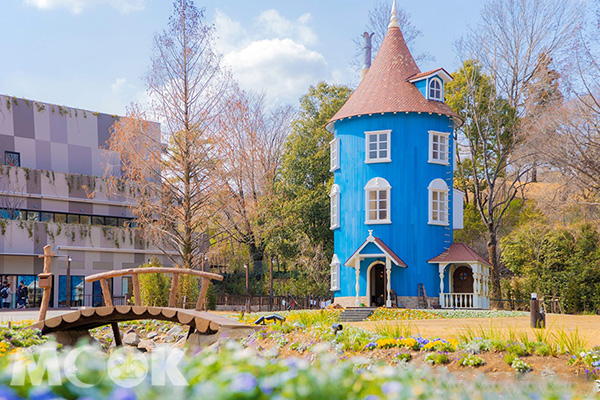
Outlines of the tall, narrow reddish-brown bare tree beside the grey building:
{"label": "tall, narrow reddish-brown bare tree beside the grey building", "polygon": [[121,156],[122,176],[108,179],[113,188],[125,184],[120,193],[135,202],[132,211],[146,239],[173,263],[198,268],[217,207],[213,137],[229,77],[203,10],[191,0],[175,0],[173,8],[168,28],[154,38],[151,105],[147,112],[133,105],[114,125],[109,148]]}

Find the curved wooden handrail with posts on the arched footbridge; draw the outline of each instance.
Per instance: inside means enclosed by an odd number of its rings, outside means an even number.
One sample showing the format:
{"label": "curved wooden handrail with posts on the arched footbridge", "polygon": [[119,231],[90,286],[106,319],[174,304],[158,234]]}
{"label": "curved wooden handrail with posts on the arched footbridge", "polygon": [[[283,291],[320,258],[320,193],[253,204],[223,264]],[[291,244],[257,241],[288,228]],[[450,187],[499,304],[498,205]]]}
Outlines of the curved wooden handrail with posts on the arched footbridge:
{"label": "curved wooden handrail with posts on the arched footbridge", "polygon": [[192,275],[202,279],[202,287],[200,289],[200,294],[198,295],[198,301],[196,302],[196,311],[201,311],[204,307],[204,301],[206,298],[206,290],[208,289],[208,283],[211,279],[221,281],[223,280],[223,276],[218,274],[213,274],[210,272],[204,271],[196,271],[192,269],[185,268],[162,268],[162,267],[151,267],[151,268],[129,268],[129,269],[121,269],[116,271],[102,272],[100,274],[90,275],[85,277],[86,282],[96,282],[100,281],[100,287],[102,289],[102,298],[104,299],[104,304],[106,306],[112,307],[113,301],[110,293],[110,289],[108,288],[108,279],[116,278],[120,276],[131,276],[131,281],[133,283],[133,296],[134,296],[134,304],[136,306],[141,306],[141,296],[140,296],[140,281],[139,275],[141,274],[169,274],[172,275],[171,279],[171,290],[169,292],[169,307],[175,308],[175,300],[177,295],[177,286],[179,284],[179,275]]}

